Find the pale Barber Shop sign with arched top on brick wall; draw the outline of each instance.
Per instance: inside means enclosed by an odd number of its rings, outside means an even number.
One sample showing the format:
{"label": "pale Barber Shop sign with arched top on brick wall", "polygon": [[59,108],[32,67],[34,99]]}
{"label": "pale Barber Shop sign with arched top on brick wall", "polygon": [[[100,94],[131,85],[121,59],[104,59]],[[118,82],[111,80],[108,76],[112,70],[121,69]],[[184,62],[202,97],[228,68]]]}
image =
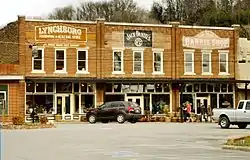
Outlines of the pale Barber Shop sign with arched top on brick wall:
{"label": "pale Barber Shop sign with arched top on brick wall", "polygon": [[220,38],[212,31],[203,31],[195,37],[183,37],[183,47],[193,49],[225,49],[230,46],[229,38]]}

